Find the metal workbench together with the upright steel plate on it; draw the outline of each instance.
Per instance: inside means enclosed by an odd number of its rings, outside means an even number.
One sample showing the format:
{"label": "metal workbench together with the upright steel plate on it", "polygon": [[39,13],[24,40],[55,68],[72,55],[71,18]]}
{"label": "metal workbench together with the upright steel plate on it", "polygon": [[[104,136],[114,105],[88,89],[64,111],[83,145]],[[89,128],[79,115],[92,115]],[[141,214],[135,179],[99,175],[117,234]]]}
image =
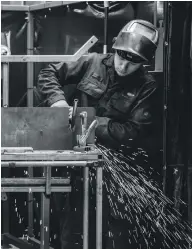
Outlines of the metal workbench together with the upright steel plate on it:
{"label": "metal workbench together with the upright steel plate on it", "polygon": [[[94,120],[93,108],[78,108],[74,132],[68,128],[67,108],[2,108],[2,148],[1,167],[9,171],[2,175],[1,192],[6,203],[6,195],[26,192],[31,200],[33,193],[41,193],[41,231],[40,241],[31,237],[33,228],[33,207],[28,203],[29,237],[23,241],[10,235],[5,229],[10,225],[9,209],[3,208],[7,223],[3,225],[4,245],[12,248],[47,249],[50,235],[50,198],[53,192],[70,193],[72,190],[69,178],[52,177],[53,167],[81,167],[83,170],[83,249],[88,249],[88,211],[89,211],[89,168],[96,168],[96,248],[102,248],[102,166],[103,157],[94,143],[94,134],[89,137],[86,151],[75,151],[74,141],[80,132],[79,113],[88,113],[88,125]],[[50,149],[49,149],[50,148]],[[30,169],[29,177],[10,178],[10,171],[15,168]],[[42,177],[34,177],[33,169],[41,167]],[[32,174],[31,174],[32,173]],[[9,196],[7,198],[7,201]],[[33,199],[32,199],[33,200]],[[7,205],[6,205],[7,207]]]}

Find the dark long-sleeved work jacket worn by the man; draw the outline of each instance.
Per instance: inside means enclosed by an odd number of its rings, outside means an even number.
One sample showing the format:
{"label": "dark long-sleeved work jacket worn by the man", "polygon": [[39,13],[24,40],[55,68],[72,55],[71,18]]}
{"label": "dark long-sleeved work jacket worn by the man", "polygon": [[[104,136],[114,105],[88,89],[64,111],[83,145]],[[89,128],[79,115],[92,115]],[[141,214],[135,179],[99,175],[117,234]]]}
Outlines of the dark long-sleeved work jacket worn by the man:
{"label": "dark long-sleeved work jacket worn by the man", "polygon": [[96,109],[98,140],[110,147],[143,147],[157,131],[157,84],[144,69],[119,77],[113,54],[91,53],[77,62],[50,64],[41,70],[38,91],[46,106],[66,96],[62,87],[76,85],[76,92],[88,96],[88,106]]}

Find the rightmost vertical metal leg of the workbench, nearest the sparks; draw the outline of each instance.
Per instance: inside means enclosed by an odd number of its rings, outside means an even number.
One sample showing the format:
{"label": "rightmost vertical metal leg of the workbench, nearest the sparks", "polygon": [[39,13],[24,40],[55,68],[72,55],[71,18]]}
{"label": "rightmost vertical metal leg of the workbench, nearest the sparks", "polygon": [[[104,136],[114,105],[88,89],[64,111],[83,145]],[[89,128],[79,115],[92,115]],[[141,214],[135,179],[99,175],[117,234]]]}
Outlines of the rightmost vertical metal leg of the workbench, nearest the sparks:
{"label": "rightmost vertical metal leg of the workbench, nearest the sparks", "polygon": [[96,183],[96,249],[102,249],[102,201],[103,201],[103,168],[97,168]]}

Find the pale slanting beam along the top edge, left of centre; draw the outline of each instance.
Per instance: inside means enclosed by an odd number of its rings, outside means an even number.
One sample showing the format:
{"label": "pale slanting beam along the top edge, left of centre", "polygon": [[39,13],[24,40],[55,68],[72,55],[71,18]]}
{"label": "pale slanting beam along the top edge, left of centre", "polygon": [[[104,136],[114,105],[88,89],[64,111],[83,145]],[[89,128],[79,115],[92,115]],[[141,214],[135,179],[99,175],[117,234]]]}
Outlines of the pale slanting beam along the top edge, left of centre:
{"label": "pale slanting beam along the top edge, left of centre", "polygon": [[70,4],[79,3],[79,2],[82,2],[82,1],[52,1],[52,2],[47,2],[47,3],[33,4],[29,6],[29,10],[38,11],[41,9],[55,8],[55,7],[70,5]]}

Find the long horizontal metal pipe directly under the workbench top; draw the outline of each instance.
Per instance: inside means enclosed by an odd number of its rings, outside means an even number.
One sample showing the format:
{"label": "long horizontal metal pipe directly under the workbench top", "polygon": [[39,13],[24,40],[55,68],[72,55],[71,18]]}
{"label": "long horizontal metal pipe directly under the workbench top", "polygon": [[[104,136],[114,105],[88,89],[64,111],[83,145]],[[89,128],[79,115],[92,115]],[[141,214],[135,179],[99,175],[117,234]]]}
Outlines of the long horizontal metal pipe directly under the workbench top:
{"label": "long horizontal metal pipe directly under the workbench top", "polygon": [[[78,166],[78,167],[85,167],[91,166],[92,163],[97,161],[31,161],[31,162],[1,162],[1,167],[63,167],[63,166]],[[94,165],[95,166],[95,165]]]}

